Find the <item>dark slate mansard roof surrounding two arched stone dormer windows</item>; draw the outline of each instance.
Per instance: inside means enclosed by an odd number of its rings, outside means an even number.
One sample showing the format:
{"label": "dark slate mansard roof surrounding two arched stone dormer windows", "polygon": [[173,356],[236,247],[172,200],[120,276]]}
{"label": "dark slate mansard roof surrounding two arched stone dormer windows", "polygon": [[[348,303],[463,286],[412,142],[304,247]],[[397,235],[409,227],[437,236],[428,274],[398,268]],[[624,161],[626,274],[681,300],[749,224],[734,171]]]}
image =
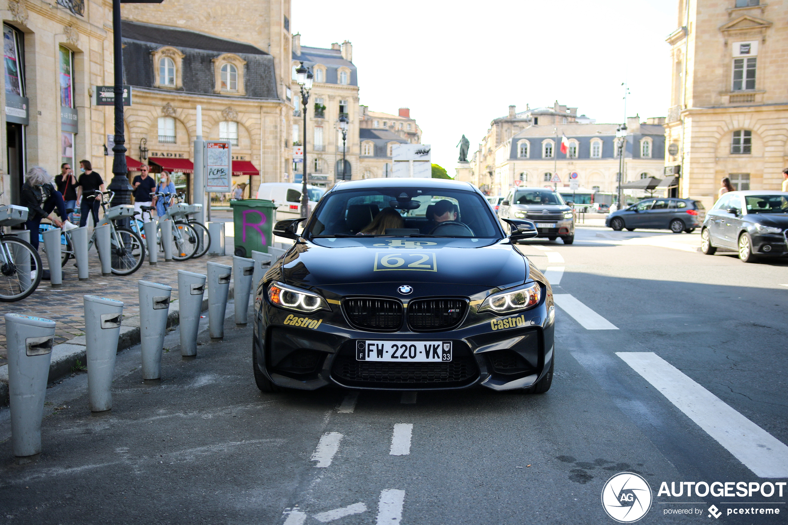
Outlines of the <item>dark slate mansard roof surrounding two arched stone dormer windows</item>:
{"label": "dark slate mansard roof surrounding two arched stone dormer windows", "polygon": [[[221,39],[197,31],[124,20],[123,81],[132,86],[154,87],[157,65],[151,52],[172,46],[184,54],[181,67],[183,91],[214,94],[214,62],[221,54],[232,53],[247,62],[243,87],[247,97],[279,98],[273,57],[251,44]],[[162,90],[169,91],[169,90]],[[224,96],[224,95],[217,95]]]}

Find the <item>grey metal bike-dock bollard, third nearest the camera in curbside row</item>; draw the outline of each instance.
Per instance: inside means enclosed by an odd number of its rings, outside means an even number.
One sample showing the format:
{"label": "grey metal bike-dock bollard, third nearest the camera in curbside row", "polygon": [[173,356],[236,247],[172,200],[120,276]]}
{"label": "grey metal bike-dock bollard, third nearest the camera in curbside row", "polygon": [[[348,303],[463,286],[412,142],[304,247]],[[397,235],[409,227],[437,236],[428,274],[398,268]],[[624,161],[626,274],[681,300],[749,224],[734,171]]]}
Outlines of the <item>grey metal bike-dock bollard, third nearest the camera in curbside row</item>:
{"label": "grey metal bike-dock bollard, third nearest the camera in curbside row", "polygon": [[139,339],[143,354],[143,379],[162,377],[162,349],[167,332],[167,313],[172,287],[138,281]]}

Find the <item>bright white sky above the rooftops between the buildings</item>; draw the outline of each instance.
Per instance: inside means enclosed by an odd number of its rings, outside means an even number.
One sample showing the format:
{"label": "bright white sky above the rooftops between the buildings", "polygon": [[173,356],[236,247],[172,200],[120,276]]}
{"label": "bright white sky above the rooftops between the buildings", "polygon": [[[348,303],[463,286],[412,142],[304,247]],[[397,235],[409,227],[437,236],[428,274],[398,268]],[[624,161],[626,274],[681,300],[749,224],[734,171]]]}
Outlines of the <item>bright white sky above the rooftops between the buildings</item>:
{"label": "bright white sky above the rooftops between the buildings", "polygon": [[560,104],[600,123],[666,116],[667,35],[678,0],[378,3],[293,0],[303,46],[347,39],[359,68],[359,98],[372,111],[411,108],[433,162],[454,176],[463,133],[468,157],[490,121]]}

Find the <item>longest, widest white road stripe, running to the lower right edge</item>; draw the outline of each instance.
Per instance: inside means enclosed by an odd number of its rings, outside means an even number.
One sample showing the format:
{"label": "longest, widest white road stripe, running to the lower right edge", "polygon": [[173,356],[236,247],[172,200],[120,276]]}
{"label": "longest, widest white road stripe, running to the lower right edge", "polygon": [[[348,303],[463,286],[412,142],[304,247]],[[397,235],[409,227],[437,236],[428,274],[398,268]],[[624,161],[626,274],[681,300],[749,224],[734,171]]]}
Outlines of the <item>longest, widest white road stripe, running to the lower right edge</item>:
{"label": "longest, widest white road stripe, running to the lower right edge", "polygon": [[788,446],[653,352],[616,352],[728,452],[761,478],[788,477]]}

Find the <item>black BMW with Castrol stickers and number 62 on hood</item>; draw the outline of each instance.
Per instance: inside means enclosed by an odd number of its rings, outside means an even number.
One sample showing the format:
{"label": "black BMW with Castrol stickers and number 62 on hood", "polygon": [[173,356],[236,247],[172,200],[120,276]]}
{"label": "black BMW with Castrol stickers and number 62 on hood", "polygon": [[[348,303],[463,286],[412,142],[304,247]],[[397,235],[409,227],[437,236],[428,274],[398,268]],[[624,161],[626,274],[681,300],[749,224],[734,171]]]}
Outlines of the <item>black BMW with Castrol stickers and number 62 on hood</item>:
{"label": "black BMW with Castrol stickers and number 62 on hood", "polygon": [[[440,222],[444,200],[456,216]],[[379,214],[402,224],[373,234]],[[441,179],[340,183],[296,233],[303,220],[277,222],[296,242],[256,290],[260,390],[550,388],[552,290],[515,249],[533,223]]]}

